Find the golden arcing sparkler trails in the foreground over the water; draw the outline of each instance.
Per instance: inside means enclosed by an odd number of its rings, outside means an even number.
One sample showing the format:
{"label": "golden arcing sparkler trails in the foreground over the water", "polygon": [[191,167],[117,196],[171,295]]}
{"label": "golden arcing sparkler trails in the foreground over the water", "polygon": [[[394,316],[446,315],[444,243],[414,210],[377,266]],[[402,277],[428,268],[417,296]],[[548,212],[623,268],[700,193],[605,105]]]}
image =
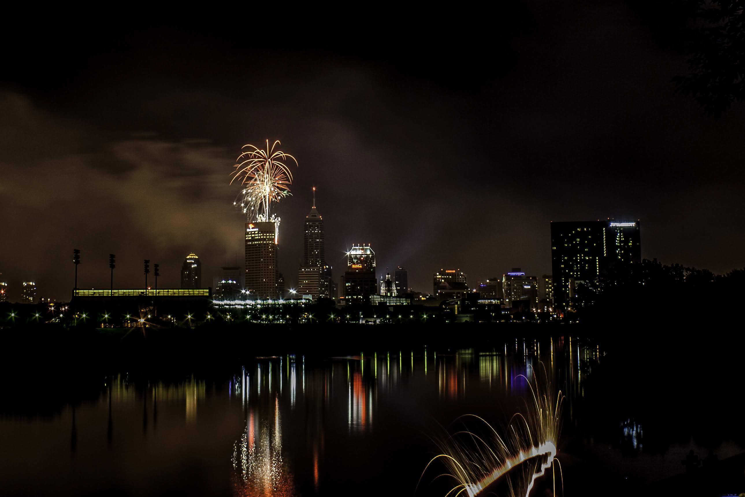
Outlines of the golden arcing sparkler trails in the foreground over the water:
{"label": "golden arcing sparkler trails in the foreground over the water", "polygon": [[498,489],[508,496],[527,497],[536,479],[552,469],[556,495],[554,461],[559,462],[556,455],[563,396],[560,391],[554,396],[545,367],[543,373],[542,387],[537,379],[531,383],[519,375],[530,387],[532,402],[525,402],[524,414],[513,415],[503,435],[481,417],[460,417],[477,422],[481,431],[464,428],[444,440],[435,440],[440,454],[429,461],[422,477],[432,463],[441,460],[447,471],[437,478],[451,478],[457,483],[446,497],[493,495]]}

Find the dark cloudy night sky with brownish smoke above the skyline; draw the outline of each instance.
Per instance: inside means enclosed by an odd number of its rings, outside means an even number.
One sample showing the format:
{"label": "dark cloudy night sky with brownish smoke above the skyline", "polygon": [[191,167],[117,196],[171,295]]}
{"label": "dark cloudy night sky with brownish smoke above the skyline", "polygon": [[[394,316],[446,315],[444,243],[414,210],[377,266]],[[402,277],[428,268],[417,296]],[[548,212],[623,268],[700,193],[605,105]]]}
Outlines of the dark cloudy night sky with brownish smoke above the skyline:
{"label": "dark cloudy night sky with brownish smoke above the skyline", "polygon": [[683,22],[641,4],[6,19],[2,279],[66,299],[79,248],[81,288],[108,288],[109,253],[115,287],[142,259],[178,287],[194,251],[212,285],[243,259],[232,165],[267,138],[299,162],[274,208],[288,288],[313,185],[337,282],[355,242],[417,291],[446,267],[540,276],[550,221],[607,217],[641,220],[644,258],[742,268],[745,107],[673,95]]}

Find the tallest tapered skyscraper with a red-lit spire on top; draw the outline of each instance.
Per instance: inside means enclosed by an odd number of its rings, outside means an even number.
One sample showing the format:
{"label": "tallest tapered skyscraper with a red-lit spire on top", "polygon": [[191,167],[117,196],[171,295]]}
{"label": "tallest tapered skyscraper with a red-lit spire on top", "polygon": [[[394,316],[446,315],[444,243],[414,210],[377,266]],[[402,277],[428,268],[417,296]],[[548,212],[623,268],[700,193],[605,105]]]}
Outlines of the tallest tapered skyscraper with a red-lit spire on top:
{"label": "tallest tapered skyscraper with a red-lit spire on top", "polygon": [[298,292],[318,297],[331,297],[331,266],[326,264],[326,248],[323,243],[323,216],[316,209],[316,187],[313,187],[313,206],[305,216],[302,264],[297,270]]}

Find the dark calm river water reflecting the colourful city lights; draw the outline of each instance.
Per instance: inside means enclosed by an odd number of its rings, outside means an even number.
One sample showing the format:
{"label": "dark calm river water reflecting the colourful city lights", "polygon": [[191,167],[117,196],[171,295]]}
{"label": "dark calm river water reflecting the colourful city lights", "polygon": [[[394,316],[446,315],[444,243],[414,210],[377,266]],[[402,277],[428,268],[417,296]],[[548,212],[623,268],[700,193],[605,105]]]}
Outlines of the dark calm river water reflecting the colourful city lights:
{"label": "dark calm river water reflecting the colourful city lights", "polygon": [[[51,388],[69,379],[49,371],[5,401],[0,493],[443,496],[453,485],[435,478],[442,467],[422,476],[434,440],[463,414],[508,429],[528,382],[564,396],[566,495],[633,493],[684,472],[691,450],[708,461],[745,452],[716,358],[656,347],[554,336],[296,351],[214,374],[92,373],[84,393]],[[530,495],[553,492],[547,474]]]}

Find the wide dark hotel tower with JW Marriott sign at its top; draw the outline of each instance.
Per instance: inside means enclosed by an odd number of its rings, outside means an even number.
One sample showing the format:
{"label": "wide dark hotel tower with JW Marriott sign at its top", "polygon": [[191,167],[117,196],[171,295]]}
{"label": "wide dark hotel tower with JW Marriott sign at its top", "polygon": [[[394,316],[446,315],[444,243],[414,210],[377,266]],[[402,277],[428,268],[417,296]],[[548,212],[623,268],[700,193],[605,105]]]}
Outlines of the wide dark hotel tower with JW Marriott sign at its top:
{"label": "wide dark hotel tower with JW Marriott sign at its top", "polygon": [[601,276],[621,276],[641,263],[639,221],[568,221],[551,223],[551,270],[554,305],[571,304],[574,285]]}

